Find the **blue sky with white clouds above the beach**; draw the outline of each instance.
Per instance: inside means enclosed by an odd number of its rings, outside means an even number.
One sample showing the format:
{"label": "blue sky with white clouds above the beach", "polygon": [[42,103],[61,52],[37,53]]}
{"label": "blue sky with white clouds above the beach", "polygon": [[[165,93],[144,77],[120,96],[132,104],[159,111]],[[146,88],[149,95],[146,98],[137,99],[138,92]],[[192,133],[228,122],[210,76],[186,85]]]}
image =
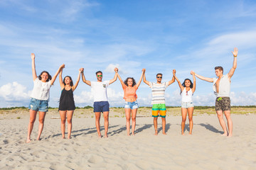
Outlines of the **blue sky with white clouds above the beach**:
{"label": "blue sky with white clouds above the beach", "polygon": [[[227,74],[231,51],[238,47],[238,68],[232,78],[231,103],[255,105],[256,2],[255,1],[0,1],[0,107],[28,106],[33,89],[31,52],[36,70],[55,74],[65,64],[63,76],[96,81],[172,78],[183,81],[191,70],[215,77],[214,67]],[[196,106],[214,106],[212,84],[196,79]],[[90,86],[82,81],[74,92],[76,106],[92,106]],[[110,106],[123,106],[119,80],[109,87]],[[151,89],[142,82],[137,91],[140,106],[150,106]],[[58,106],[58,79],[50,89],[50,106]],[[177,82],[166,89],[167,106],[180,106]]]}

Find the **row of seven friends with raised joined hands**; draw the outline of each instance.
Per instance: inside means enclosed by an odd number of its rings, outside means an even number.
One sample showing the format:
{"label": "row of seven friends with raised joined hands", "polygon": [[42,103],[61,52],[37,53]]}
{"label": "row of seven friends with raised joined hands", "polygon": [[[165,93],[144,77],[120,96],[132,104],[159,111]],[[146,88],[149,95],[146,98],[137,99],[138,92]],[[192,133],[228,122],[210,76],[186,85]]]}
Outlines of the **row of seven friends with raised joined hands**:
{"label": "row of seven friends with raised joined hands", "polygon": [[[30,113],[30,120],[28,123],[28,136],[26,142],[31,142],[31,132],[33,130],[33,124],[36,120],[36,115],[39,115],[39,126],[38,126],[38,137],[36,140],[40,140],[41,133],[43,131],[44,119],[46,117],[46,112],[48,111],[48,101],[49,101],[49,91],[50,86],[53,85],[55,79],[59,75],[60,81],[60,103],[58,111],[60,113],[60,129],[62,132],[62,137],[65,138],[65,123],[68,122],[68,139],[71,137],[72,131],[72,118],[75,111],[75,101],[73,97],[73,91],[78,86],[80,77],[82,76],[82,81],[91,86],[92,93],[94,95],[93,103],[93,112],[95,113],[95,125],[97,129],[98,137],[102,137],[100,132],[100,115],[103,113],[104,117],[104,127],[105,135],[107,137],[108,127],[109,127],[109,111],[110,104],[107,98],[107,87],[114,83],[114,81],[119,79],[122,84],[122,89],[124,90],[124,111],[126,115],[126,127],[127,135],[130,134],[130,120],[132,118],[132,135],[134,135],[135,125],[136,125],[136,115],[139,105],[137,103],[137,94],[136,91],[139,88],[139,85],[142,82],[142,79],[145,84],[147,84],[152,91],[152,117],[154,118],[154,130],[155,134],[158,135],[157,129],[157,118],[160,116],[162,120],[162,132],[166,135],[166,102],[164,98],[164,93],[166,88],[173,84],[176,80],[178,86],[181,89],[181,135],[184,135],[184,128],[186,123],[186,117],[188,115],[189,120],[189,134],[192,135],[193,129],[193,93],[196,91],[196,77],[204,81],[213,83],[213,91],[215,93],[215,111],[218,115],[218,120],[220,122],[221,128],[223,128],[223,135],[231,137],[233,132],[233,122],[230,117],[230,79],[233,76],[235,69],[237,67],[237,55],[238,48],[234,48],[233,53],[233,67],[230,69],[228,74],[223,74],[223,67],[215,67],[215,75],[217,78],[207,78],[201,75],[196,74],[191,71],[193,76],[193,82],[191,79],[185,79],[183,84],[176,77],[176,70],[173,70],[173,77],[170,81],[162,82],[163,74],[156,74],[156,82],[150,82],[146,80],[146,69],[142,69],[142,75],[139,78],[139,81],[136,83],[133,77],[128,77],[125,81],[122,81],[122,78],[119,75],[118,69],[114,68],[114,78],[108,81],[102,81],[102,72],[96,72],[97,81],[89,81],[85,79],[84,69],[80,68],[78,73],[77,81],[75,84],[71,77],[66,76],[62,77],[63,69],[65,64],[60,65],[58,71],[54,74],[53,77],[46,71],[41,72],[39,76],[36,74],[36,64],[35,64],[35,54],[31,54],[32,60],[32,75],[33,75],[33,91],[31,94],[31,101],[29,103],[28,109]],[[228,122],[228,128],[225,125],[223,118],[223,113]]]}

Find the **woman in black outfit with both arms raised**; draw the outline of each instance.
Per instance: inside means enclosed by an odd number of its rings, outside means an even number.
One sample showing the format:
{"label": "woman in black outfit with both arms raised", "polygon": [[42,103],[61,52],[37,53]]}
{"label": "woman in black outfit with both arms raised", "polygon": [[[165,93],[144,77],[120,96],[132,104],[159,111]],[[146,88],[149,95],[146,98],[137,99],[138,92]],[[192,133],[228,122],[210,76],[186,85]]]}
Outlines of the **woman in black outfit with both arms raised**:
{"label": "woman in black outfit with both arms raised", "polygon": [[73,80],[71,77],[66,76],[62,79],[63,69],[60,70],[59,80],[60,80],[60,88],[61,88],[61,95],[60,95],[60,106],[58,108],[60,112],[60,119],[61,119],[61,133],[63,139],[65,138],[65,121],[68,121],[68,139],[70,139],[71,130],[72,130],[72,117],[75,111],[75,101],[73,97],[73,91],[78,86],[80,81],[80,74],[83,72],[83,69],[79,69],[78,80],[73,84]]}

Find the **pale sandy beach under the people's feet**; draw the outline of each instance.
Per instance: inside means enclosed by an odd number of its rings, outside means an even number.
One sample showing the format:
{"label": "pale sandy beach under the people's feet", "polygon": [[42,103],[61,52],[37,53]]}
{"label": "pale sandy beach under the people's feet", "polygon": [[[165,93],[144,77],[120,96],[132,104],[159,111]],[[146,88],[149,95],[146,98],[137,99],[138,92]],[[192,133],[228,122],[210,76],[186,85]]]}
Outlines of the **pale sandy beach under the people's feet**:
{"label": "pale sandy beach under the people's feet", "polygon": [[233,137],[220,136],[223,131],[210,113],[213,109],[195,111],[193,135],[188,135],[187,120],[182,136],[180,108],[167,112],[167,135],[161,134],[159,119],[160,132],[154,136],[149,109],[143,109],[137,115],[136,135],[127,137],[124,114],[118,113],[123,109],[112,108],[107,139],[97,137],[90,109],[75,111],[71,140],[61,139],[58,111],[52,110],[46,115],[41,141],[35,140],[36,120],[28,144],[28,111],[1,111],[0,169],[255,169],[255,109],[232,115]]}

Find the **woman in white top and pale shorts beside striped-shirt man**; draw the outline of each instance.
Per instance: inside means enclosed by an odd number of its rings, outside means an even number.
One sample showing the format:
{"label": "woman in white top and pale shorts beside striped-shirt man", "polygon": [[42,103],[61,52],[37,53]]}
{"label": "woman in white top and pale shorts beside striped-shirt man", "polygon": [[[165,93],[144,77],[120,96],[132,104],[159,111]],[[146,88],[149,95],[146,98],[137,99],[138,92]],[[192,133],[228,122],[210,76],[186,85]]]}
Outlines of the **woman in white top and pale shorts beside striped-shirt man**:
{"label": "woman in white top and pale shorts beside striped-shirt man", "polygon": [[189,120],[189,135],[192,135],[193,129],[193,101],[192,95],[196,91],[196,77],[195,72],[191,71],[193,76],[193,83],[190,79],[185,79],[183,84],[178,80],[176,77],[176,70],[173,70],[174,78],[178,82],[178,86],[181,88],[181,135],[184,135],[185,123],[186,123],[186,115],[188,113],[188,120]]}

